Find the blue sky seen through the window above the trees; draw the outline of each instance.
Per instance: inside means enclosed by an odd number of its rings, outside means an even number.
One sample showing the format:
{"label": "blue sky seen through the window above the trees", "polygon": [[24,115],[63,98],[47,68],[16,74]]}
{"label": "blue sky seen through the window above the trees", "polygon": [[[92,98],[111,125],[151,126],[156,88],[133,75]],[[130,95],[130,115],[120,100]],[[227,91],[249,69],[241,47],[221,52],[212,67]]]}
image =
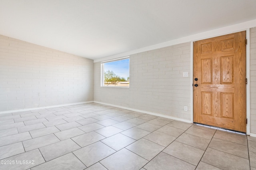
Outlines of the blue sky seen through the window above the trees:
{"label": "blue sky seen through the window above the trees", "polygon": [[104,63],[104,72],[113,71],[116,75],[127,79],[129,77],[129,59]]}

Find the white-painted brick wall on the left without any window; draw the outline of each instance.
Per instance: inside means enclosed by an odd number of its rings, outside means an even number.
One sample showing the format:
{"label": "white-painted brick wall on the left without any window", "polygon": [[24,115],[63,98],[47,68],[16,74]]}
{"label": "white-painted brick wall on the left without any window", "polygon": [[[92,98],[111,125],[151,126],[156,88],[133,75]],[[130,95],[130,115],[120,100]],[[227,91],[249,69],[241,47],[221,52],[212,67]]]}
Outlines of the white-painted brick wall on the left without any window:
{"label": "white-painted brick wall on the left without any window", "polygon": [[93,101],[93,60],[0,35],[0,111]]}

